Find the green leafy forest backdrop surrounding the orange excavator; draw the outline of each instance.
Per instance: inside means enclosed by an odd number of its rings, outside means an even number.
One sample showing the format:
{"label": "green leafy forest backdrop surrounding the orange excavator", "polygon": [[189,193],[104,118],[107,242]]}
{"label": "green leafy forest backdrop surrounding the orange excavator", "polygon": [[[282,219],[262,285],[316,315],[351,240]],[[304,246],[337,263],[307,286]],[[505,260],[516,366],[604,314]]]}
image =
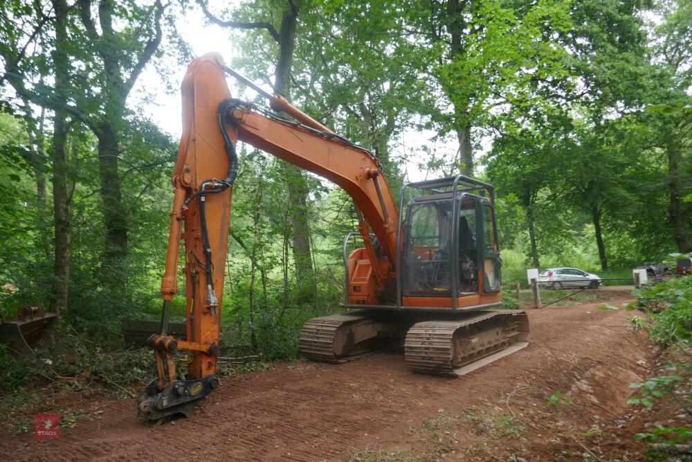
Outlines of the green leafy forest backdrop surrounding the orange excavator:
{"label": "green leafy forest backdrop surrounding the orange excavator", "polygon": [[[160,121],[179,107],[157,102],[209,51],[370,150],[394,197],[458,173],[495,185],[507,287],[692,251],[689,0],[8,0],[3,316],[41,302],[109,348],[122,319],[158,319],[179,143]],[[222,336],[294,358],[302,323],[340,310],[356,209],[246,145],[233,192]]]}

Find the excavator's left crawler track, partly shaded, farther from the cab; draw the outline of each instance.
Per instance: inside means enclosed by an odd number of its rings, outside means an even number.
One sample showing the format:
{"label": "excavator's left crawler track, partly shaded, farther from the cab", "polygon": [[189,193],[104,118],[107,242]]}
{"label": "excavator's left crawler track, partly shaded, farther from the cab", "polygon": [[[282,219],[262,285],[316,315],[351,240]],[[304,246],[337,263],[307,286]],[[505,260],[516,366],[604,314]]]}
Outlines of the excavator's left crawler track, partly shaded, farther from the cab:
{"label": "excavator's left crawler track, partly shaded, farther from the cab", "polygon": [[331,314],[309,319],[300,332],[300,353],[316,362],[342,363],[372,352],[383,334],[397,335],[397,324],[369,312]]}

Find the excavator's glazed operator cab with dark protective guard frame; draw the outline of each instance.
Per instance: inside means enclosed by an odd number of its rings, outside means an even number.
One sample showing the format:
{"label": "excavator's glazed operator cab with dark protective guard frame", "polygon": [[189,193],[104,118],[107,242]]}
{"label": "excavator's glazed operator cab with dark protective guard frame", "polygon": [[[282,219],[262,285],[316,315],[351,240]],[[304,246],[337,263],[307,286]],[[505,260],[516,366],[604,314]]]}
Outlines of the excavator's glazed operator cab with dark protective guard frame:
{"label": "excavator's glazed operator cab with dark protective guard frame", "polygon": [[[406,188],[421,194],[404,207]],[[404,187],[403,297],[446,298],[453,305],[459,297],[500,291],[495,211],[487,195],[491,185],[462,175]]]}

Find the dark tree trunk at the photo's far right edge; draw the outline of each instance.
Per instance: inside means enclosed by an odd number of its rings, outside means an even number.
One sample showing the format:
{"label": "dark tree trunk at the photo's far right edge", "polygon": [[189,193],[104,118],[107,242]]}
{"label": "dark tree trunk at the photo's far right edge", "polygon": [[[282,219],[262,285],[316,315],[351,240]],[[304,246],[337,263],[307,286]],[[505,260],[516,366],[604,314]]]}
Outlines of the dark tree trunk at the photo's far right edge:
{"label": "dark tree trunk at the photo's far right edge", "polygon": [[677,245],[677,250],[686,254],[692,251],[692,238],[689,231],[690,222],[692,222],[692,206],[682,201],[681,153],[675,141],[669,142],[666,146],[666,155],[668,157],[668,193],[671,197],[671,203],[668,204],[668,215],[671,217],[673,239]]}

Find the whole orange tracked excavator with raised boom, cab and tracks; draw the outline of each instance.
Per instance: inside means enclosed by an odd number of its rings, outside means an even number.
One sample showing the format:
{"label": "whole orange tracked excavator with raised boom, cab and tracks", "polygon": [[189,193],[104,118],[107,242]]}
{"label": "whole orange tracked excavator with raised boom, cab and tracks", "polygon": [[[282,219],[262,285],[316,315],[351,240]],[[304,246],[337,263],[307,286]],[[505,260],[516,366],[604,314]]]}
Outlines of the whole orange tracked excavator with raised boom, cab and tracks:
{"label": "whole orange tracked excavator with raised boom, cab and tracks", "polygon": [[[271,109],[232,98],[226,76],[268,98]],[[239,141],[324,177],[352,197],[358,232],[343,243],[345,314],[304,324],[300,352],[340,363],[403,344],[411,371],[457,377],[527,346],[529,322],[501,304],[491,184],[464,175],[404,184],[399,203],[374,155],[269,94],[224,64],[197,57],[181,86],[183,134],[161,282],[161,332],[149,337],[156,377],[140,392],[145,420],[188,415],[219,386],[217,355],[224,267]],[[349,240],[363,246],[347,255]],[[168,333],[184,240],[187,338]],[[176,352],[187,352],[176,359]],[[180,356],[180,355],[178,355]],[[182,363],[187,371],[179,371]]]}

